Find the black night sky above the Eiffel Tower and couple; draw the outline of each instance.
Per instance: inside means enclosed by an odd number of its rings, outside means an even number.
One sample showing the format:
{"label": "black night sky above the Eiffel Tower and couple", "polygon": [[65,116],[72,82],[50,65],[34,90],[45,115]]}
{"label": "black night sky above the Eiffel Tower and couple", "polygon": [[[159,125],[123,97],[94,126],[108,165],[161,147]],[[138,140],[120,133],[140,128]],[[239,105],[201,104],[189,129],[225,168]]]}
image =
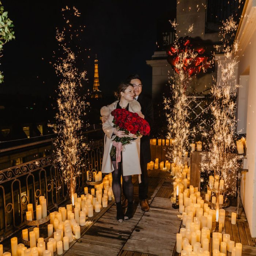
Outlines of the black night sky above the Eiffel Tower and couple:
{"label": "black night sky above the Eiffel Tower and couple", "polygon": [[[63,23],[61,8],[78,8],[84,49],[84,68],[93,86],[94,56],[99,60],[99,82],[103,96],[113,95],[118,84],[131,73],[143,80],[151,93],[152,69],[146,60],[156,50],[157,21],[174,18],[176,1],[20,1],[2,0],[13,20],[16,39],[4,46],[0,68],[4,83],[0,94],[27,94],[47,99],[54,95],[58,79],[49,63],[57,49],[56,27]],[[172,17],[173,16],[173,17]],[[168,17],[168,18],[167,18]],[[89,51],[89,49],[91,49]],[[88,58],[90,56],[90,58]]]}

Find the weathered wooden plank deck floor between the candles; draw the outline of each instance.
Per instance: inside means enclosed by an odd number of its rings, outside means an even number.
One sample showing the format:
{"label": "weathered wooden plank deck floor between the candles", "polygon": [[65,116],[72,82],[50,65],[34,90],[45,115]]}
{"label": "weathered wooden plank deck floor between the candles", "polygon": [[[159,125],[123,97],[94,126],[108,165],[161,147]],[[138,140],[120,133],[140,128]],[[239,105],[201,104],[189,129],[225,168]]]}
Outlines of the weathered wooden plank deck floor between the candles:
{"label": "weathered wooden plank deck floor between the candles", "polygon": [[[72,243],[65,256],[111,255],[111,256],[165,256],[176,253],[176,233],[181,227],[178,211],[172,208],[170,200],[172,180],[169,173],[149,171],[150,210],[140,209],[138,201],[138,180],[133,178],[135,213],[133,218],[119,223],[116,220],[116,205],[112,201],[108,208],[95,215],[91,225],[82,229],[82,237]],[[233,204],[233,205],[232,205]],[[226,209],[227,215],[235,211],[234,202]],[[242,219],[231,225],[227,217],[226,230],[236,242],[243,244],[243,256],[256,255],[256,240],[249,232],[248,222],[242,211]],[[224,231],[225,232],[225,231]],[[231,256],[231,253],[228,254]]]}

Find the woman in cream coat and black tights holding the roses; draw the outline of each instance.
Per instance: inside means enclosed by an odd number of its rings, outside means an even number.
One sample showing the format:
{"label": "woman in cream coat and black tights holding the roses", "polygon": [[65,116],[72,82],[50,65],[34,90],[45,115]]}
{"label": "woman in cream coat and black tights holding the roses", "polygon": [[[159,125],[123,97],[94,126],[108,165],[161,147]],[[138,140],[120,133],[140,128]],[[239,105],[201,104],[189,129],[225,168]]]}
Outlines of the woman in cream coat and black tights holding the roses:
{"label": "woman in cream coat and black tights holding the roses", "polygon": [[[123,219],[132,218],[133,212],[133,184],[132,175],[141,174],[140,170],[140,137],[129,133],[125,135],[124,131],[118,131],[113,127],[113,116],[111,112],[117,108],[124,108],[130,112],[140,113],[141,107],[138,101],[134,99],[134,89],[129,83],[122,83],[117,89],[118,101],[113,102],[107,107],[101,108],[102,116],[109,116],[108,120],[102,124],[105,132],[105,146],[102,159],[102,173],[112,173],[112,189],[116,200],[117,220],[123,222]],[[115,136],[132,138],[129,144],[123,146],[121,162],[116,164],[116,158],[110,156],[110,150],[113,145]],[[124,195],[128,199],[128,208],[123,215],[123,208],[121,204],[121,176],[123,180]]]}

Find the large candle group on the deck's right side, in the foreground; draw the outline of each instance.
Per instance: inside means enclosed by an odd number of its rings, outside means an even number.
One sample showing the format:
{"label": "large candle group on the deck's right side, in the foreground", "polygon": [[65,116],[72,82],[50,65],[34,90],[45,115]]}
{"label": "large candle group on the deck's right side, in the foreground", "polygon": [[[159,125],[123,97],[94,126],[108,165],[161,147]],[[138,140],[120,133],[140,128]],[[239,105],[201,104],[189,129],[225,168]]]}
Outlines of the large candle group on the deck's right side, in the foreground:
{"label": "large candle group on the deck's right side, in the foreground", "polygon": [[215,222],[215,232],[212,232],[212,255],[225,256],[228,251],[232,252],[232,256],[241,256],[242,244],[237,243],[235,246],[235,242],[230,240],[229,234],[222,236],[226,215],[224,209],[210,209],[208,204],[204,203],[198,188],[193,188],[193,186],[179,194],[179,203],[180,212],[182,212],[182,225],[185,227],[180,229],[180,233],[176,237],[178,253],[181,252],[181,255],[210,255],[210,233],[212,223]]}

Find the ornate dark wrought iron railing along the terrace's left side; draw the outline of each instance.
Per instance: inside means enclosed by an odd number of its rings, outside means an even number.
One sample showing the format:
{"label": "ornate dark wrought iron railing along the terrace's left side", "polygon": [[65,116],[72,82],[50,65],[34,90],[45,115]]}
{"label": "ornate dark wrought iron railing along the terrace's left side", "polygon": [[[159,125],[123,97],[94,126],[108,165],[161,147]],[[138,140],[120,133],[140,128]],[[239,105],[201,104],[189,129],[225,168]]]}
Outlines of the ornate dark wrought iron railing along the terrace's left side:
{"label": "ornate dark wrought iron railing along the terrace's left side", "polygon": [[[44,143],[42,140],[37,146],[42,147]],[[12,147],[9,153],[25,147],[29,150],[29,146],[26,144],[23,147]],[[78,192],[86,185],[87,170],[101,170],[103,139],[95,140],[90,148],[89,152],[84,153],[85,165],[78,178]],[[7,154],[8,149],[2,151]],[[25,225],[27,204],[32,203],[35,209],[39,196],[45,196],[48,210],[57,210],[60,204],[68,200],[67,190],[59,168],[54,162],[53,153],[0,170],[0,241],[10,237]]]}

